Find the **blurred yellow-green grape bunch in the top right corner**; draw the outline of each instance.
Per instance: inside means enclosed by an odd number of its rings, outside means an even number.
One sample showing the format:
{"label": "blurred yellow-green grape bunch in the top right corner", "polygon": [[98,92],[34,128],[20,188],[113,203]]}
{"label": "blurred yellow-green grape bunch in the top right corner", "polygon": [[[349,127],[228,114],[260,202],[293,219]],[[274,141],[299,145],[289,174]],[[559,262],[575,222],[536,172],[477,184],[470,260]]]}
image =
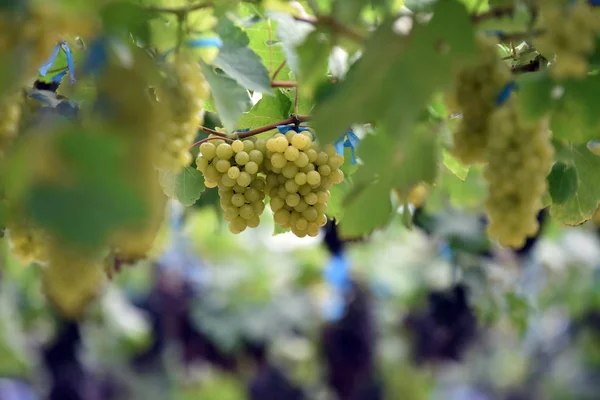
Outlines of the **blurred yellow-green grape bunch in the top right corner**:
{"label": "blurred yellow-green grape bunch in the top right corner", "polygon": [[586,0],[539,2],[541,34],[533,44],[542,54],[556,55],[550,74],[556,79],[584,78],[588,56],[596,47],[600,11]]}

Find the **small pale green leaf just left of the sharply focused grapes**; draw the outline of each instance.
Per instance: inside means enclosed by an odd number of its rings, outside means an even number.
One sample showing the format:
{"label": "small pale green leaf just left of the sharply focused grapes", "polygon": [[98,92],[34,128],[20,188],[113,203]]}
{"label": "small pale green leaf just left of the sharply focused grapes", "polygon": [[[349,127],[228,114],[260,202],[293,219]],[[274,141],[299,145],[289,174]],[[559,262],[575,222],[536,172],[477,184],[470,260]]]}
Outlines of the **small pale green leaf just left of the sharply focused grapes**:
{"label": "small pale green leaf just left of the sharply focused grapes", "polygon": [[163,192],[184,206],[191,206],[200,198],[206,187],[200,171],[186,167],[179,174],[170,170],[159,171],[159,182]]}

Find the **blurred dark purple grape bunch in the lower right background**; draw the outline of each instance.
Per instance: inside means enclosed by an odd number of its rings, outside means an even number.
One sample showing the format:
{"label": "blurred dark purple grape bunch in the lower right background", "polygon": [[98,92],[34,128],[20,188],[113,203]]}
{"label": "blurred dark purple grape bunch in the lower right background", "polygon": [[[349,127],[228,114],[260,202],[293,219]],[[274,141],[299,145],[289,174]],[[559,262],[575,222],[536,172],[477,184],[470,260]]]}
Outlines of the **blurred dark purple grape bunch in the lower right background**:
{"label": "blurred dark purple grape bunch in the lower right background", "polygon": [[403,326],[412,340],[417,364],[460,361],[477,336],[477,320],[467,299],[467,288],[431,291],[426,307],[411,311]]}

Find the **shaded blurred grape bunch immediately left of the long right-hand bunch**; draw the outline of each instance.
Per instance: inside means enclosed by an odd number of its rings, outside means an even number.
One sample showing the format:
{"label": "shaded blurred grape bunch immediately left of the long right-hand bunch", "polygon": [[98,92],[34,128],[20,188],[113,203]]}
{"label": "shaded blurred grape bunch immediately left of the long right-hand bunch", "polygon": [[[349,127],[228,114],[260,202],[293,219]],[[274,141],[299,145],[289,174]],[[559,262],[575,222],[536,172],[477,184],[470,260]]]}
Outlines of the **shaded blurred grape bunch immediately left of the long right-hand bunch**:
{"label": "shaded blurred grape bunch immediately left of the long right-hand bunch", "polygon": [[478,44],[481,58],[458,71],[453,94],[453,102],[462,112],[462,121],[454,133],[453,153],[465,164],[485,161],[488,120],[498,93],[512,78],[510,68],[498,56],[496,43],[480,37]]}

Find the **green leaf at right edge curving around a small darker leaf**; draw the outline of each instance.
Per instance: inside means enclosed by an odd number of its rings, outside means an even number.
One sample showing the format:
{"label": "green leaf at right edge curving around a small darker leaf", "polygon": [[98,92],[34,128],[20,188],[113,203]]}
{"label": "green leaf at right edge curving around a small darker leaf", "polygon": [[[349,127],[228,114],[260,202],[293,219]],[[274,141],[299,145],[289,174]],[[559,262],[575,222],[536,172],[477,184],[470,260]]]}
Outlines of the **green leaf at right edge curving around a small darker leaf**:
{"label": "green leaf at right edge curving around a small darker leaf", "polygon": [[579,225],[592,217],[600,200],[600,157],[585,145],[562,148],[563,157],[570,155],[570,163],[577,170],[577,191],[562,204],[553,204],[550,215],[560,223]]}

